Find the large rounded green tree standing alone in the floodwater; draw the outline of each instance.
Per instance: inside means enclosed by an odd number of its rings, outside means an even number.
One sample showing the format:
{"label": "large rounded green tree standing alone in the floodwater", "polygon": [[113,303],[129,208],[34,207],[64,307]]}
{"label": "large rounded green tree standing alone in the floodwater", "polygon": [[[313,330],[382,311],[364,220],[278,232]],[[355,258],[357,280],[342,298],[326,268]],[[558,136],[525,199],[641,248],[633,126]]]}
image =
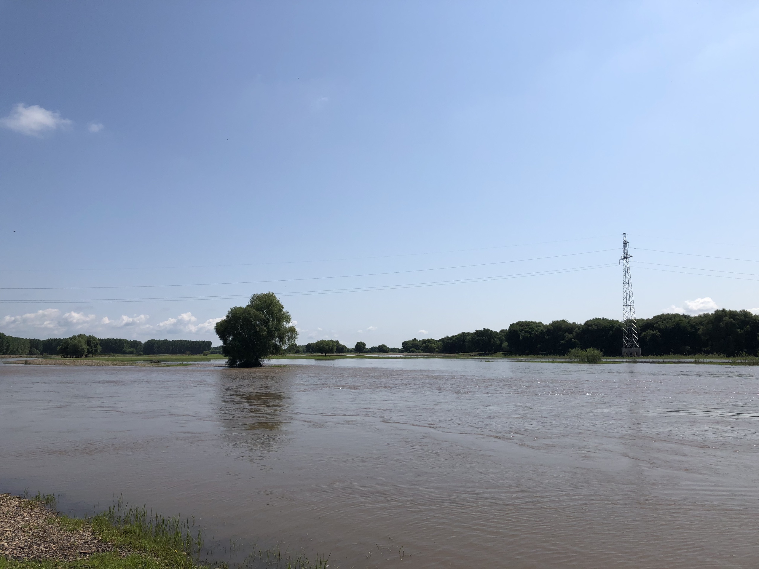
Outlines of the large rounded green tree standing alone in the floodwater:
{"label": "large rounded green tree standing alone in the floodwater", "polygon": [[229,367],[260,367],[261,360],[284,354],[298,338],[290,313],[273,292],[254,294],[245,307],[231,307],[216,323]]}

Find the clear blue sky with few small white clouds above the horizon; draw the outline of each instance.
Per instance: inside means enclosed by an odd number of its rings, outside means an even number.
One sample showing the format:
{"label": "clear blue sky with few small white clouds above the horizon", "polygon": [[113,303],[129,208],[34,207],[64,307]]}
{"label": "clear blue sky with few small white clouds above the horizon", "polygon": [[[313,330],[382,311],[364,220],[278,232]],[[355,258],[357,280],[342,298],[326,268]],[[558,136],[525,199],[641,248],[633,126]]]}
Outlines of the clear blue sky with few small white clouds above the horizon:
{"label": "clear blue sky with few small white clouds above the horizon", "polygon": [[2,332],[620,318],[623,231],[638,316],[759,311],[756,3],[0,2],[0,54]]}

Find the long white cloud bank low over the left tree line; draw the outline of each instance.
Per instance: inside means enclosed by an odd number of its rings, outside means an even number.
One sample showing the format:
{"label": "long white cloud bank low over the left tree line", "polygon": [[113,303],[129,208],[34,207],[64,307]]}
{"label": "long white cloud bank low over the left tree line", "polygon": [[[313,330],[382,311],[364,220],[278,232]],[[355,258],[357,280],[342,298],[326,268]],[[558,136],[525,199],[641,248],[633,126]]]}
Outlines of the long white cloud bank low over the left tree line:
{"label": "long white cloud bank low over the left tree line", "polygon": [[169,336],[201,336],[216,339],[214,326],[222,318],[209,318],[200,322],[192,313],[179,314],[157,324],[150,323],[147,314],[122,314],[113,319],[109,316],[64,313],[57,308],[37,310],[17,316],[5,316],[0,320],[0,332],[21,338],[65,338],[74,334],[92,334],[99,338],[148,339],[150,335],[162,333]]}

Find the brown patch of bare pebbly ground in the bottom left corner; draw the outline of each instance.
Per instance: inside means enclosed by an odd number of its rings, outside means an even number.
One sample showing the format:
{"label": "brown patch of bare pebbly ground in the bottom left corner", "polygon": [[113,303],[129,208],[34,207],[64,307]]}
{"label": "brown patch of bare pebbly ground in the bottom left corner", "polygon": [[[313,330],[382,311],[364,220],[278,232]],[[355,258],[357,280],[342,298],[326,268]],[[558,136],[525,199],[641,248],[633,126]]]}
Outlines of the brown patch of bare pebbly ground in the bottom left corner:
{"label": "brown patch of bare pebbly ground in the bottom left corner", "polygon": [[114,550],[87,525],[66,527],[66,521],[40,501],[0,494],[0,555],[25,561],[76,561]]}

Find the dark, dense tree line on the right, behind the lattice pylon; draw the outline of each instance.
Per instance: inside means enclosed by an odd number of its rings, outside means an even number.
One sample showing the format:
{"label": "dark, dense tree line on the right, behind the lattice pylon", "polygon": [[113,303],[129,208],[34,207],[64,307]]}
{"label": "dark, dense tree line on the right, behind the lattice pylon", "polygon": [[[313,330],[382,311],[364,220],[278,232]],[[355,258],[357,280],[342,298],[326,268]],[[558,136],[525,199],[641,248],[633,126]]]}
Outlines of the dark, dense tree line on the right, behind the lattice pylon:
{"label": "dark, dense tree line on the right, behind the lattice pylon", "polygon": [[[716,310],[713,313],[658,314],[636,320],[644,355],[759,353],[759,316],[748,310]],[[504,352],[515,355],[562,356],[573,349],[595,348],[604,356],[622,351],[622,322],[594,318],[582,324],[554,320],[550,324],[522,320],[508,329],[461,332],[435,340],[404,341],[401,351],[411,354],[461,354]]]}

